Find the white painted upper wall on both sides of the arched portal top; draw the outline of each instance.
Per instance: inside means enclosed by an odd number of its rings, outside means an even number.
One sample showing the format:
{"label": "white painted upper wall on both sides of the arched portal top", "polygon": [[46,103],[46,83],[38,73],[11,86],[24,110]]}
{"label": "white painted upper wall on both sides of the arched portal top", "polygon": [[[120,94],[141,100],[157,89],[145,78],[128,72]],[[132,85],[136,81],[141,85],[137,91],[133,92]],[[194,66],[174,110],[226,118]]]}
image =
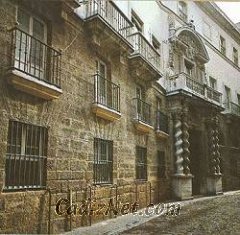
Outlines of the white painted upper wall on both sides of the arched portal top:
{"label": "white painted upper wall on both sides of the arched portal top", "polygon": [[[138,0],[116,0],[114,1],[121,11],[131,20],[133,10],[144,23],[144,36],[151,43],[153,34],[161,43],[161,67],[163,73],[168,67],[169,57],[169,23],[168,15],[173,11],[178,15],[178,1],[162,1],[165,6],[159,6],[156,1]],[[209,53],[210,61],[206,64],[206,75],[217,80],[217,88],[224,95],[224,86],[231,88],[232,101],[237,102],[236,94],[240,94],[240,69],[233,65],[228,59],[233,60],[233,47],[238,50],[238,60],[240,66],[240,42],[236,42],[228,32],[224,30],[213,18],[207,15],[193,1],[187,1],[188,21],[194,20],[195,29],[202,35],[203,42]],[[84,7],[80,7],[78,14],[84,17]],[[185,23],[175,17],[176,27]],[[208,27],[209,26],[209,27]],[[226,40],[226,58],[220,54],[220,35]],[[160,84],[164,87],[164,79],[160,79]],[[224,97],[223,97],[224,98]],[[225,99],[225,98],[224,98]]]}

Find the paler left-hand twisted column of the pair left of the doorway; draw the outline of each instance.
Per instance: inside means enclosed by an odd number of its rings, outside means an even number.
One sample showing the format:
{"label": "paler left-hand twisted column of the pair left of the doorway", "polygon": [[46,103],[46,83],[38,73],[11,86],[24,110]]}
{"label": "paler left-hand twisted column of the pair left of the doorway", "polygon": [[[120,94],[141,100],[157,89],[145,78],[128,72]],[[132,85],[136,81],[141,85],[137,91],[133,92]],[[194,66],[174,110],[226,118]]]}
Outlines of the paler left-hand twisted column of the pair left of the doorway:
{"label": "paler left-hand twisted column of the pair left of the doorway", "polygon": [[182,122],[180,113],[175,114],[174,120],[174,146],[176,157],[176,174],[183,175],[183,140]]}

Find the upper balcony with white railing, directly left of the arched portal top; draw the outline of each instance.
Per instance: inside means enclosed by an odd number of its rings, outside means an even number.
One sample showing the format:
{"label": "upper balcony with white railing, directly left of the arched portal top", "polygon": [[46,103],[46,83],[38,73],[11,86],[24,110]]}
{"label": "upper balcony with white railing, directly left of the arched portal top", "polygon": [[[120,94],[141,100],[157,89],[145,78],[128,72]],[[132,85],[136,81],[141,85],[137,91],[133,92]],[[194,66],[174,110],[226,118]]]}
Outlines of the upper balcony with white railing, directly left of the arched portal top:
{"label": "upper balcony with white railing, directly left of the arched portal top", "polygon": [[145,80],[158,80],[162,76],[160,54],[142,33],[133,33],[128,38],[134,47],[134,52],[129,56],[133,75],[141,76]]}

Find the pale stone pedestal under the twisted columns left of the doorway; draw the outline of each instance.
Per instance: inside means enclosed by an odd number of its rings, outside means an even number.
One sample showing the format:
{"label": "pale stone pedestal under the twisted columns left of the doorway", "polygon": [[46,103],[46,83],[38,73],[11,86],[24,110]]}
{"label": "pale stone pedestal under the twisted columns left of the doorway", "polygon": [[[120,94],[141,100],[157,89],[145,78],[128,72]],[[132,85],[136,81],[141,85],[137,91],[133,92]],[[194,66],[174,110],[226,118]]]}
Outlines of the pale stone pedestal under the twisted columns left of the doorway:
{"label": "pale stone pedestal under the twisted columns left of the doorway", "polygon": [[172,179],[173,196],[177,200],[192,199],[192,175],[174,175]]}

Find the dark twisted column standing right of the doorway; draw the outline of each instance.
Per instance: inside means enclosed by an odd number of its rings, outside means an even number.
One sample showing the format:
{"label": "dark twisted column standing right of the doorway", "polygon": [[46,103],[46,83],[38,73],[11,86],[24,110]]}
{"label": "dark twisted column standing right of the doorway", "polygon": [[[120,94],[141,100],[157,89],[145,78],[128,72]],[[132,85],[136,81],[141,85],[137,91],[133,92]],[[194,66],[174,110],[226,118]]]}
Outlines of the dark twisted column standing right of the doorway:
{"label": "dark twisted column standing right of the doorway", "polygon": [[213,117],[210,123],[210,165],[209,170],[213,175],[221,174],[220,172],[220,152],[218,138],[218,118]]}

